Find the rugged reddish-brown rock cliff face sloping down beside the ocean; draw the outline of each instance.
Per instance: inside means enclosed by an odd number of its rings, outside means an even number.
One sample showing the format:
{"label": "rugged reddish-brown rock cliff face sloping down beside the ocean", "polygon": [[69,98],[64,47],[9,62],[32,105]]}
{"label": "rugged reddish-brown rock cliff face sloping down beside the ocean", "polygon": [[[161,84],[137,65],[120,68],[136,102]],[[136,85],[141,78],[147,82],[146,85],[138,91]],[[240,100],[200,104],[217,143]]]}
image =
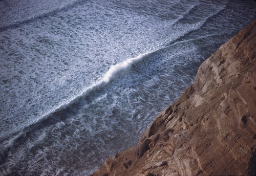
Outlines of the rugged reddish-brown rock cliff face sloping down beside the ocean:
{"label": "rugged reddish-brown rock cliff face sloping down beside the ocean", "polygon": [[193,85],[93,175],[255,175],[256,19],[199,68]]}

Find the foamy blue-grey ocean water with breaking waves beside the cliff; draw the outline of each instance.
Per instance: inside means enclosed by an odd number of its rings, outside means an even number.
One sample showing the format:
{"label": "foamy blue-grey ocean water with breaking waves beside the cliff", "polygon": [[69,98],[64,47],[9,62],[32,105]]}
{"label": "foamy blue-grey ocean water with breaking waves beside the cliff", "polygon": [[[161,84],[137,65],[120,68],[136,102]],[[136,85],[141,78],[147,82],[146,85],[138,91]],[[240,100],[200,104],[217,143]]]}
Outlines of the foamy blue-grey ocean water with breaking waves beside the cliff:
{"label": "foamy blue-grey ocean water with breaking waves beside the cliff", "polygon": [[0,175],[90,175],[255,17],[254,1],[0,1]]}

